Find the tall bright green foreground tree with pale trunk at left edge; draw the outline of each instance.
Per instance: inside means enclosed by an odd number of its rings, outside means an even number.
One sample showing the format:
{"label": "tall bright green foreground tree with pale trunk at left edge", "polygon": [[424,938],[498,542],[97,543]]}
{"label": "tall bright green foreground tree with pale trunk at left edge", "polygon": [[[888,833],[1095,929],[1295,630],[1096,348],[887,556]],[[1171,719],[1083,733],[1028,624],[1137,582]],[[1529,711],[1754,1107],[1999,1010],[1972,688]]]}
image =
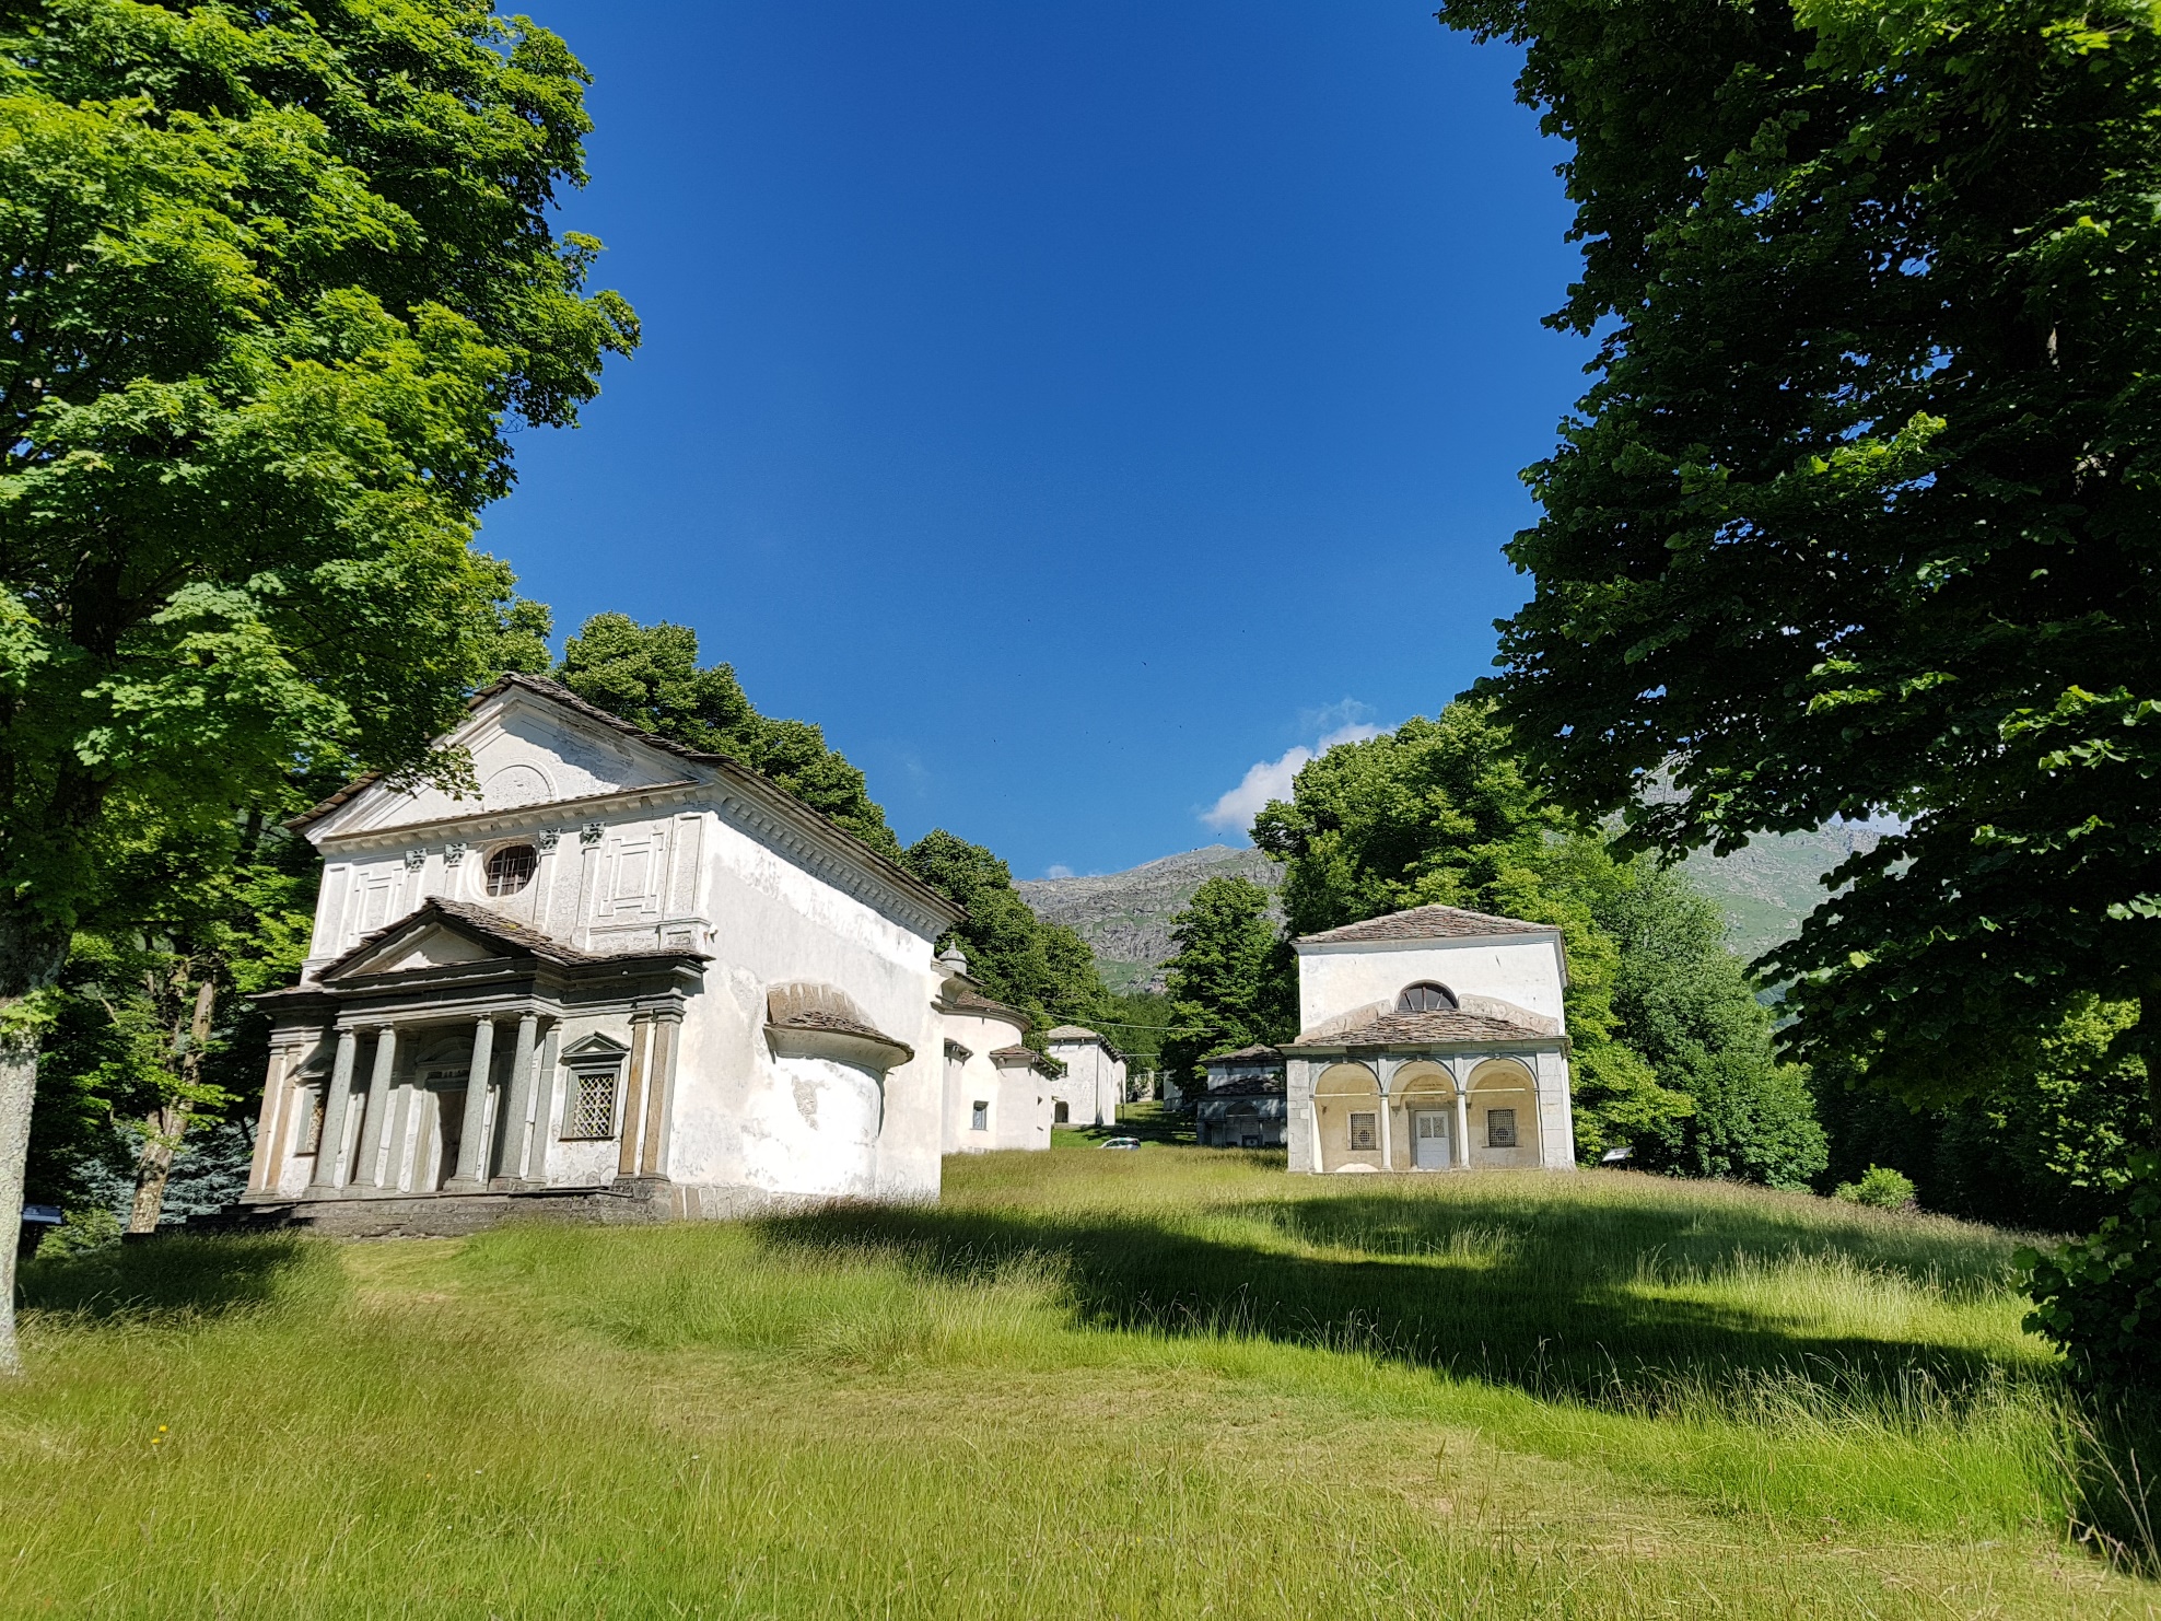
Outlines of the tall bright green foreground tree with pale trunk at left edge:
{"label": "tall bright green foreground tree with pale trunk at left edge", "polygon": [[0,78],[6,1230],[115,806],[426,767],[508,594],[469,549],[508,430],[575,421],[635,322],[551,223],[586,73],[484,0],[17,0]]}

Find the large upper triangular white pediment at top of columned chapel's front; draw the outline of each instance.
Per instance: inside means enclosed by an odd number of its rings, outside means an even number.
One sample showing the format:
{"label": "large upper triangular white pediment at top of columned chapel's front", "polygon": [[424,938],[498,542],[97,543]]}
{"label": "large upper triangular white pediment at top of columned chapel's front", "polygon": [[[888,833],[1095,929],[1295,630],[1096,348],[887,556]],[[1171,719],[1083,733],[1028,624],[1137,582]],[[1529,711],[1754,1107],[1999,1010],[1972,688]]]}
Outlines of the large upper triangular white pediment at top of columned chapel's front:
{"label": "large upper triangular white pediment at top of columned chapel's front", "polygon": [[316,836],[380,832],[488,810],[566,804],[698,776],[698,767],[547,692],[510,685],[480,700],[439,739],[473,761],[478,798],[441,787],[370,782],[326,815]]}

